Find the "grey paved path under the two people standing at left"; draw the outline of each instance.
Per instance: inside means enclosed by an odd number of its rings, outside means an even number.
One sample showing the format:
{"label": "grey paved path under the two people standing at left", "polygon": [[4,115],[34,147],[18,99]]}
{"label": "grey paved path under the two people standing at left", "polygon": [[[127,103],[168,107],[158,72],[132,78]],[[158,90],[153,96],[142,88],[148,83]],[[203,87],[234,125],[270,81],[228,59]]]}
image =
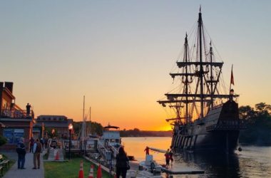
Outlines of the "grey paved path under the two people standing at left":
{"label": "grey paved path under the two people standing at left", "polygon": [[18,169],[18,164],[15,162],[11,169],[9,169],[9,172],[4,175],[4,178],[44,178],[44,154],[41,154],[40,169],[32,169],[34,167],[33,155],[33,153],[26,153],[26,162],[24,164],[26,169]]}

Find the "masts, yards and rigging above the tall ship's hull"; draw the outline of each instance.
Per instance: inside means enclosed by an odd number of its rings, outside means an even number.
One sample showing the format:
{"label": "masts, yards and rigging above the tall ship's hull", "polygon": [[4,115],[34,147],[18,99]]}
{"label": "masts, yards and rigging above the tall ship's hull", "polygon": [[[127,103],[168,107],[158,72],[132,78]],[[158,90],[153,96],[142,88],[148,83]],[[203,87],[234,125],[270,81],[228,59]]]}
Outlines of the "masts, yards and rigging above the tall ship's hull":
{"label": "masts, yards and rigging above the tall ship's hull", "polygon": [[[205,117],[205,109],[212,109],[215,101],[229,99],[230,97],[237,98],[239,95],[228,95],[220,93],[221,85],[218,85],[223,78],[220,78],[222,73],[223,62],[215,61],[212,43],[210,43],[210,60],[206,56],[205,52],[205,35],[203,30],[203,19],[201,10],[198,14],[198,28],[197,37],[195,41],[197,48],[196,54],[193,56],[193,51],[189,50],[188,35],[185,35],[183,61],[177,61],[177,66],[180,69],[177,73],[170,73],[170,76],[182,78],[180,85],[181,90],[171,91],[165,93],[165,100],[158,100],[158,103],[163,107],[174,108],[176,111],[176,117],[170,118],[167,121],[184,119],[185,123],[192,122],[193,118]],[[190,60],[196,57],[195,60]],[[207,104],[205,106],[205,104]],[[183,123],[183,122],[181,122]]]}

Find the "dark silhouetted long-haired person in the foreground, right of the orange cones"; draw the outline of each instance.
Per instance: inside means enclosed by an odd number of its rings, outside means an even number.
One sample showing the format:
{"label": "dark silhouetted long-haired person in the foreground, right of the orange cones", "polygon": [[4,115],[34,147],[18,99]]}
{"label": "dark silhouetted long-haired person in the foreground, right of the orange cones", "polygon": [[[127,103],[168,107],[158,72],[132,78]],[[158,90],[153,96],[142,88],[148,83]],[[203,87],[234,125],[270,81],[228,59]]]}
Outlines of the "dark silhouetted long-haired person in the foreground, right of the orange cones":
{"label": "dark silhouetted long-haired person in the foreground, right of the orange cones", "polygon": [[118,149],[118,155],[116,156],[116,176],[117,178],[126,178],[127,170],[130,169],[129,159],[124,151],[123,147]]}

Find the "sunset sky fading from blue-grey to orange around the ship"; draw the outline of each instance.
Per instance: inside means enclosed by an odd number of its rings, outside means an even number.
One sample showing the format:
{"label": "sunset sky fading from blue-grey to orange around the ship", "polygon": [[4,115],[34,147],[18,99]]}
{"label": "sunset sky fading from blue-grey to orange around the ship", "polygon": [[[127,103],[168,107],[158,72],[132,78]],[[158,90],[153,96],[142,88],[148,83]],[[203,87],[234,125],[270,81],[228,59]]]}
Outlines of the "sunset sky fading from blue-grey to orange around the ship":
{"label": "sunset sky fading from blue-grey to orange around the ship", "polygon": [[0,81],[36,116],[82,120],[85,95],[102,125],[169,130],[156,101],[200,4],[239,104],[271,104],[271,1],[0,1]]}

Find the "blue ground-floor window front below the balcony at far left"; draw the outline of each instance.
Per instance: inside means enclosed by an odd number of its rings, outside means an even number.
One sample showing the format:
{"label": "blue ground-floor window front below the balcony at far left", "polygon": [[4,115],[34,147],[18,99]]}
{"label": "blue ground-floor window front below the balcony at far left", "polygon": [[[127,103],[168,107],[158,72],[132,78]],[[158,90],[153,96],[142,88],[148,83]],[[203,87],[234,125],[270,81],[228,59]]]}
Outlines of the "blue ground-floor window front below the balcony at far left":
{"label": "blue ground-floor window front below the balcony at far left", "polygon": [[4,128],[4,137],[6,137],[8,144],[17,144],[21,137],[24,137],[24,129],[10,129]]}

